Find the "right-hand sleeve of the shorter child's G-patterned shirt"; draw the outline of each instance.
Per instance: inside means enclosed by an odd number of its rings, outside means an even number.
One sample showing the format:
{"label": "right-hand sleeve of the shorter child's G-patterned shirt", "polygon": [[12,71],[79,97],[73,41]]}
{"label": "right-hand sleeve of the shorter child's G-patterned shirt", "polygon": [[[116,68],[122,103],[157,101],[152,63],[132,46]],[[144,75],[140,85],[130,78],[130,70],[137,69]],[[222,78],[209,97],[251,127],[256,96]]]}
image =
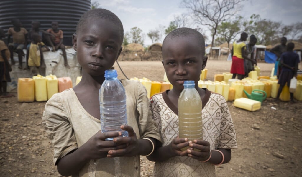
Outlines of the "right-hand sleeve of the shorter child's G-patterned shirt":
{"label": "right-hand sleeve of the shorter child's G-patterned shirt", "polygon": [[232,116],[224,98],[221,100],[220,110],[221,122],[218,148],[237,149],[236,132]]}

